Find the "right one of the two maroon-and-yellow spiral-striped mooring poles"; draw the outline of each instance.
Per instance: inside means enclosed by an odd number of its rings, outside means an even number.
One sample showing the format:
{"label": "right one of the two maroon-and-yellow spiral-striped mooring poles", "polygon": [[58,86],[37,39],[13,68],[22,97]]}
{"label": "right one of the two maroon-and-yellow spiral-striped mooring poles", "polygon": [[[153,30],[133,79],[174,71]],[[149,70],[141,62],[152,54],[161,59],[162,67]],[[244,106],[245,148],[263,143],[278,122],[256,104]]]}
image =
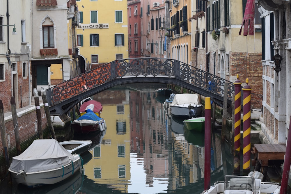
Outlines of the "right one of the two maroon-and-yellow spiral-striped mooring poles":
{"label": "right one of the two maroon-and-yellow spiral-striped mooring poles", "polygon": [[247,175],[250,172],[251,164],[251,87],[248,85],[249,79],[246,79],[246,86],[242,88],[244,93],[244,134],[243,134],[243,175]]}

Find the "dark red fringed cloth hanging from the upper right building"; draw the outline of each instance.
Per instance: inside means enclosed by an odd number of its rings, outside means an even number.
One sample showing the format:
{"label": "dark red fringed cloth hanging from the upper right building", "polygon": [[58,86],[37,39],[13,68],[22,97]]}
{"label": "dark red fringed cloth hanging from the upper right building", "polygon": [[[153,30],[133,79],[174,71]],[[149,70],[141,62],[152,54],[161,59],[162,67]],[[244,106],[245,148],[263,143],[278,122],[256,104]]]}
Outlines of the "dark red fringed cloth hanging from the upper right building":
{"label": "dark red fringed cloth hanging from the upper right building", "polygon": [[[254,35],[255,32],[255,0],[246,1],[246,9],[244,11],[244,19],[242,20],[242,27],[244,26],[244,36]],[[242,27],[240,28],[239,35],[242,34]]]}

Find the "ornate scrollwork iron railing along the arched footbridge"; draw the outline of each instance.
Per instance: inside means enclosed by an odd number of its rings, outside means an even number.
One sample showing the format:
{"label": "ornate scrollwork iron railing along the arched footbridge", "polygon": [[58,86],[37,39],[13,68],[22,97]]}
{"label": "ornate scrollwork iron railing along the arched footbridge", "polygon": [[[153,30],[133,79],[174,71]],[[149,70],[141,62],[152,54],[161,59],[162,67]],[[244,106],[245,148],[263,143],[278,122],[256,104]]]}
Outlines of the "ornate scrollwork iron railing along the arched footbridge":
{"label": "ornate scrollwork iron railing along the arched footbridge", "polygon": [[160,79],[167,78],[167,81],[169,79],[178,79],[179,83],[190,84],[220,97],[223,97],[223,88],[227,86],[227,98],[230,101],[234,92],[234,84],[232,82],[178,60],[168,58],[129,58],[104,64],[47,89],[47,100],[51,107],[64,101],[72,102],[71,104],[62,105],[65,106],[63,110],[66,111],[70,106],[74,106],[79,102],[73,101],[73,97],[105,83],[123,78],[139,81],[139,78],[152,79],[157,77]]}

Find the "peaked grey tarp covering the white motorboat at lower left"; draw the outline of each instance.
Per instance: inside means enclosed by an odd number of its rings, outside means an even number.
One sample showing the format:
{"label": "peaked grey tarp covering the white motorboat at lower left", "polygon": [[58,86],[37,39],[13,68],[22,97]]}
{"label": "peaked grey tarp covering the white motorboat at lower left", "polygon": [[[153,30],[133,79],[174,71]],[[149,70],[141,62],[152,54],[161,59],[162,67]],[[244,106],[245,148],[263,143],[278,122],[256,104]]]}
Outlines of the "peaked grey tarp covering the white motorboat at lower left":
{"label": "peaked grey tarp covering the white motorboat at lower left", "polygon": [[40,172],[71,163],[73,155],[55,139],[37,139],[22,154],[12,158],[10,170]]}

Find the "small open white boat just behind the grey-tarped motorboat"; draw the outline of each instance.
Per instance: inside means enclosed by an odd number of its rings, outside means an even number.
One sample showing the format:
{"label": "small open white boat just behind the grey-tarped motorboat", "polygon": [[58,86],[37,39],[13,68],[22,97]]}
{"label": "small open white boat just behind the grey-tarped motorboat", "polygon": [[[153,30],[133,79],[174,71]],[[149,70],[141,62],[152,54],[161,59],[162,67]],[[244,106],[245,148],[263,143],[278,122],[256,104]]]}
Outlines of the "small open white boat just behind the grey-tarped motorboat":
{"label": "small open white boat just behind the grey-tarped motorboat", "polygon": [[83,154],[86,152],[92,144],[91,140],[69,140],[69,141],[62,141],[59,142],[68,152],[71,154]]}

